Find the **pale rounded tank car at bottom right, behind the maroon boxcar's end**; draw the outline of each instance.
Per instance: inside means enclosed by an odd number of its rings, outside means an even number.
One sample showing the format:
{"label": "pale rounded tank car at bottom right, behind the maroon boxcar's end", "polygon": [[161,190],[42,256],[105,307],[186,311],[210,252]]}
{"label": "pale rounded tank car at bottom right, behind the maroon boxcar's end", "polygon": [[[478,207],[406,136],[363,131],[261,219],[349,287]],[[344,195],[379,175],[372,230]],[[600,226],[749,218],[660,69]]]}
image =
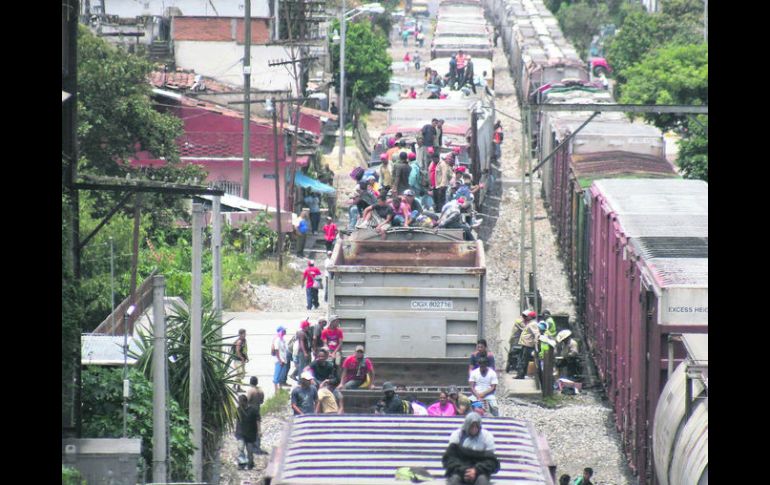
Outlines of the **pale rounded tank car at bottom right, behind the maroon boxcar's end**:
{"label": "pale rounded tank car at bottom right, behind the maroon boxcar's end", "polygon": [[708,483],[708,335],[684,334],[682,342],[687,359],[666,382],[655,410],[655,483],[705,485]]}

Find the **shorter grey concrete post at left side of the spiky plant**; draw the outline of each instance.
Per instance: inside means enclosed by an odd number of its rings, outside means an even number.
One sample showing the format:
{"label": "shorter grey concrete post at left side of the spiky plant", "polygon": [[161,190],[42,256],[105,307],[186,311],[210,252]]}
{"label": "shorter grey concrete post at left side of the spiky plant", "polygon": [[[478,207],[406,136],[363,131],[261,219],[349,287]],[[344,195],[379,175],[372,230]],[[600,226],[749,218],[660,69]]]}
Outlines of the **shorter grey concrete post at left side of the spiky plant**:
{"label": "shorter grey concrete post at left side of the spiky plant", "polygon": [[166,278],[152,277],[152,481],[166,482]]}

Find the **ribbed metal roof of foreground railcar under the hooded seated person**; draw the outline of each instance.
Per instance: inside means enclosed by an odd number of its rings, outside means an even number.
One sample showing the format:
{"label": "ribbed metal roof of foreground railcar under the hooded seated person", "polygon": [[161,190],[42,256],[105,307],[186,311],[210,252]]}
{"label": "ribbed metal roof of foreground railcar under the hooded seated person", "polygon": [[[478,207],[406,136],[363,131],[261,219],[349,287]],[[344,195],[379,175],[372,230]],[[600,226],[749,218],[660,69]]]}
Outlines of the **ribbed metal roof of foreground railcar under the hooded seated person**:
{"label": "ribbed metal roof of foreground railcar under the hooded seated person", "polygon": [[[398,485],[396,470],[424,467],[446,483],[441,456],[462,417],[308,415],[295,416],[274,448],[265,485]],[[548,443],[532,424],[484,418],[495,436],[500,471],[493,483],[553,485],[556,467]]]}

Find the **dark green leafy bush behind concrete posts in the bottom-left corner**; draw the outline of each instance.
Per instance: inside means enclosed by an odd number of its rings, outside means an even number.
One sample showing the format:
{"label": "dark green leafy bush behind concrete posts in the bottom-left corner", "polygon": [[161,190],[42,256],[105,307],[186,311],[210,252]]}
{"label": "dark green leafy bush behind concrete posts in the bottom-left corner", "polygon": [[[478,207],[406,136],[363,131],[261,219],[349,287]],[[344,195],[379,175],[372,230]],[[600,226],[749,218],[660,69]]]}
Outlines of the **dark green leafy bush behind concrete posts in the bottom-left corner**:
{"label": "dark green leafy bush behind concrete posts in the bottom-left corner", "polygon": [[[138,370],[129,369],[131,397],[128,400],[128,436],[142,439],[142,459],[152,463],[152,383]],[[123,434],[123,369],[89,366],[82,373],[83,435],[118,438]],[[187,411],[167,398],[170,445],[169,477],[192,479],[190,425]],[[150,478],[147,470],[147,478]]]}

